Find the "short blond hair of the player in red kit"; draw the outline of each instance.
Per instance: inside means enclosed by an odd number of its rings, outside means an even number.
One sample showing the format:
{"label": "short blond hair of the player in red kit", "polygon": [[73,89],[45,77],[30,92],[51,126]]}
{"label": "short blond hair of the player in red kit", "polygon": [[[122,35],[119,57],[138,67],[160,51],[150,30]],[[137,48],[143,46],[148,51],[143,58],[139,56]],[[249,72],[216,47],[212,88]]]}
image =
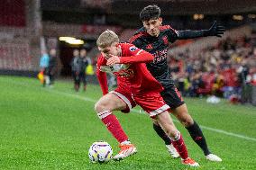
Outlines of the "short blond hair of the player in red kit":
{"label": "short blond hair of the player in red kit", "polygon": [[97,47],[105,48],[111,46],[113,42],[119,42],[119,38],[114,31],[106,30],[100,34],[96,40]]}

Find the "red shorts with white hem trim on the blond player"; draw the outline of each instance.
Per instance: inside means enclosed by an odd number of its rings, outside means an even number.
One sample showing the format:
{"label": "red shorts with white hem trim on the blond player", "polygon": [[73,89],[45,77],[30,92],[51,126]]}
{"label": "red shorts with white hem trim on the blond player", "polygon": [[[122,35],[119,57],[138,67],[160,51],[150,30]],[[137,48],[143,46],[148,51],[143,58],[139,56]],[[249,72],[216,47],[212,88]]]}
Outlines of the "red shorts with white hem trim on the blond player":
{"label": "red shorts with white hem trim on the blond player", "polygon": [[116,88],[110,93],[117,95],[124,103],[126,103],[127,108],[122,112],[130,112],[136,104],[140,105],[152,118],[161,112],[169,111],[169,105],[164,102],[159,92],[131,94],[127,91],[125,92],[121,88]]}

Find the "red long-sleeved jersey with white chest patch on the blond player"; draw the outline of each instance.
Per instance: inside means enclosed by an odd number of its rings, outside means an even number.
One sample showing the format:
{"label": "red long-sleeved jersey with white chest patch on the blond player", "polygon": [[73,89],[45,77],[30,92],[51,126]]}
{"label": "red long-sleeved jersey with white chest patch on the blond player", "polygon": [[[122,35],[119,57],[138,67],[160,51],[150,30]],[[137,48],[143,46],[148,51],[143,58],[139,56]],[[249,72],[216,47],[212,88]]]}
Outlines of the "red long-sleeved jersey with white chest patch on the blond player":
{"label": "red long-sleeved jersey with white chest patch on the blond player", "polygon": [[160,92],[163,87],[151,76],[145,63],[151,62],[154,57],[143,49],[136,48],[133,44],[120,43],[122,49],[120,64],[106,66],[106,59],[99,57],[97,60],[96,75],[103,94],[108,93],[107,79],[105,72],[111,72],[117,77],[117,87],[125,88],[132,94],[147,92]]}

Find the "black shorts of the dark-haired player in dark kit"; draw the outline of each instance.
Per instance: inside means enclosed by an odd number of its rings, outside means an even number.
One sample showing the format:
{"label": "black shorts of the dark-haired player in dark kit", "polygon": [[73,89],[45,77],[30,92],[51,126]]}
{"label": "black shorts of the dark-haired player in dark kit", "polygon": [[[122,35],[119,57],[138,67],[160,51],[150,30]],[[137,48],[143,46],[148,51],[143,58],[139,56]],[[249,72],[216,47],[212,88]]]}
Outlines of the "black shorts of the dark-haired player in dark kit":
{"label": "black shorts of the dark-haired player in dark kit", "polygon": [[160,94],[165,103],[169,105],[171,111],[185,103],[175,86],[165,88]]}

